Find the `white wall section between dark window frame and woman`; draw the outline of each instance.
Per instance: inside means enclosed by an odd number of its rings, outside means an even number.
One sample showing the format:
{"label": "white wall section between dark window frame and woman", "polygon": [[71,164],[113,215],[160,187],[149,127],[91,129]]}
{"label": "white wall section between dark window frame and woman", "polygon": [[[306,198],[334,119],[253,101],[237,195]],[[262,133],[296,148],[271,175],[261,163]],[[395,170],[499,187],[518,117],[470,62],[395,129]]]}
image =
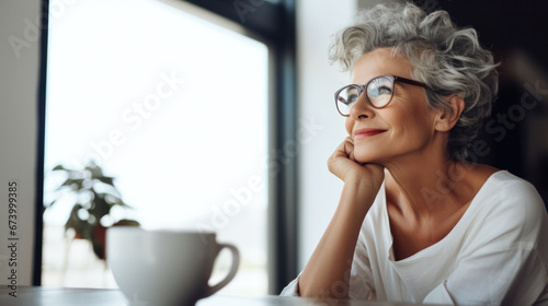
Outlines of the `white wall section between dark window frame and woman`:
{"label": "white wall section between dark window frame and woman", "polygon": [[333,93],[350,78],[329,63],[328,48],[331,35],[346,25],[356,7],[356,0],[297,1],[298,121],[320,126],[299,151],[299,269],[331,220],[342,189],[342,183],[328,170],[327,161],[346,137]]}

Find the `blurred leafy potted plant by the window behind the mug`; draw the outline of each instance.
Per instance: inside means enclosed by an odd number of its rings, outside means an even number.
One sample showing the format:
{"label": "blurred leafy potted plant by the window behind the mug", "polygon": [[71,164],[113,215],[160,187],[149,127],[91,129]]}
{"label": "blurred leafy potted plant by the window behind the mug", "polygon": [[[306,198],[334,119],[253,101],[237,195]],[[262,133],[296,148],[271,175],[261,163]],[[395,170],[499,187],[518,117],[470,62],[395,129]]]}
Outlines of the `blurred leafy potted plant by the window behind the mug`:
{"label": "blurred leafy potted plant by the window behind the mug", "polygon": [[[111,217],[114,207],[129,209],[114,186],[114,178],[105,176],[99,165],[91,162],[83,169],[70,169],[57,165],[54,173],[65,173],[64,183],[55,189],[55,199],[45,204],[45,209],[53,207],[61,200],[72,202],[72,210],[65,223],[65,231],[75,229],[75,238],[88,239],[93,246],[94,254],[100,259],[105,259],[106,227],[101,223],[105,217]],[[133,225],[139,226],[135,220],[111,220],[112,226]]]}

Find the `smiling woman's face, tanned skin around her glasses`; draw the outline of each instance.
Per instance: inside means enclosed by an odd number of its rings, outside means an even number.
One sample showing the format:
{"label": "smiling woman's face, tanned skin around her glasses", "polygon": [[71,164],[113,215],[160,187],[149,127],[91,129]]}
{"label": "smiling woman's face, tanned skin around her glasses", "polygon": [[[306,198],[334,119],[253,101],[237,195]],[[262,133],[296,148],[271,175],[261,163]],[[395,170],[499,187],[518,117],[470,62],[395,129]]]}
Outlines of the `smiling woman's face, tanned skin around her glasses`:
{"label": "smiling woman's face, tanned skin around her glasses", "polygon": [[[412,64],[390,52],[381,48],[363,55],[352,70],[352,83],[364,85],[379,75],[412,79]],[[345,121],[356,161],[386,166],[395,158],[431,150],[436,115],[421,86],[396,81],[392,99],[384,108],[370,106],[362,93]]]}

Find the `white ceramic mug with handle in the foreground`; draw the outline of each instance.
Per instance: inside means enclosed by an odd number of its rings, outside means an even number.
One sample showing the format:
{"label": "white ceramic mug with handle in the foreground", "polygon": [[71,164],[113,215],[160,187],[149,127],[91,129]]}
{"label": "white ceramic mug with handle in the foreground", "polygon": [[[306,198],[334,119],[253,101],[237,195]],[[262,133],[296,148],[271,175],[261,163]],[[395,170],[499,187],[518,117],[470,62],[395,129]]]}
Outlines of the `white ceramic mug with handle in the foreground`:
{"label": "white ceramic mug with handle in the foreground", "polygon": [[[194,305],[227,285],[238,270],[238,249],[215,237],[215,233],[115,226],[106,232],[106,260],[132,305]],[[232,252],[232,267],[222,281],[209,286],[222,248]]]}

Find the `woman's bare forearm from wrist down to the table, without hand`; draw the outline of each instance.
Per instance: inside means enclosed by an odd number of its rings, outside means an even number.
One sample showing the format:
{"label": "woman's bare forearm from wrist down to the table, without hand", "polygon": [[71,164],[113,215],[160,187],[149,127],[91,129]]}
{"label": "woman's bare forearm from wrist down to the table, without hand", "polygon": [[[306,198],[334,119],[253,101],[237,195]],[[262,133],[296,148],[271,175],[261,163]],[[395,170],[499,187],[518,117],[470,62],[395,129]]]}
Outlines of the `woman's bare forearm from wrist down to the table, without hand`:
{"label": "woman's bare forearm from wrist down to the table, without hand", "polygon": [[344,184],[335,213],[300,274],[300,296],[347,296],[359,228],[377,192],[370,183]]}

